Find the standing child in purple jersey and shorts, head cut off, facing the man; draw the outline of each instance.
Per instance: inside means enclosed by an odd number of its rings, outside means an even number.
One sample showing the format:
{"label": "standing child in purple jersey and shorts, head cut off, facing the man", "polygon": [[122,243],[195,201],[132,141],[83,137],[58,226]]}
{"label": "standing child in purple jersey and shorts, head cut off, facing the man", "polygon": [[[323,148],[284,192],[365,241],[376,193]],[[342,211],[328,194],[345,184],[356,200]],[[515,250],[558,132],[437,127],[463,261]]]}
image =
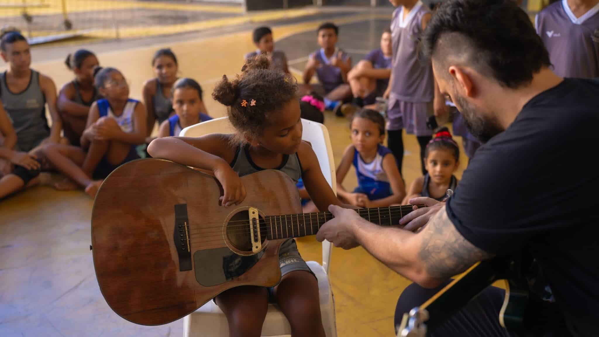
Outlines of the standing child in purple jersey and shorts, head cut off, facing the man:
{"label": "standing child in purple jersey and shorts, head cut off, facing the man", "polygon": [[424,150],[432,130],[426,125],[429,116],[446,113],[445,98],[438,94],[432,67],[419,55],[420,36],[431,20],[431,11],[419,0],[389,0],[395,7],[391,20],[393,58],[391,78],[385,92],[388,146],[397,159],[401,173],[404,157],[403,129],[415,134],[420,145],[420,166],[426,174]]}

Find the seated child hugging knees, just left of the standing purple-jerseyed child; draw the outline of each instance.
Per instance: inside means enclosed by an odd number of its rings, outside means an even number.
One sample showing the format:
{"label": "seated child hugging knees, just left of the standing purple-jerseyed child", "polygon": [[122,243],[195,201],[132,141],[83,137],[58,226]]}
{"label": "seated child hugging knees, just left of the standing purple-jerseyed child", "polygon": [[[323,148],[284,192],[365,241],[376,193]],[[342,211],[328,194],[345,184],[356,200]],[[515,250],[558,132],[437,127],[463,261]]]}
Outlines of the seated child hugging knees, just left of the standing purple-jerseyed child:
{"label": "seated child hugging knees, just left of the standing purple-jerseyed child", "polygon": [[347,78],[356,107],[369,106],[368,109],[376,110],[371,105],[376,103],[377,97],[383,97],[389,85],[392,53],[391,29],[387,28],[380,37],[380,48],[368,53],[349,71]]}

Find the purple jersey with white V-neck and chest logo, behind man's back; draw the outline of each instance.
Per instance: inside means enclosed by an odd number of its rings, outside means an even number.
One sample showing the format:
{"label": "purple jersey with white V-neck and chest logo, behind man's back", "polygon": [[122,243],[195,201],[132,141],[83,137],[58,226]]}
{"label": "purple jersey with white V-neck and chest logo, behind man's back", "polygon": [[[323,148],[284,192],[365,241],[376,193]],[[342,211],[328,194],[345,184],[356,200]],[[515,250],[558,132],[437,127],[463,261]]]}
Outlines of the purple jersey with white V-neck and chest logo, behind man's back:
{"label": "purple jersey with white V-neck and chest logo, behind man's back", "polygon": [[535,17],[555,74],[599,77],[599,0],[561,0]]}

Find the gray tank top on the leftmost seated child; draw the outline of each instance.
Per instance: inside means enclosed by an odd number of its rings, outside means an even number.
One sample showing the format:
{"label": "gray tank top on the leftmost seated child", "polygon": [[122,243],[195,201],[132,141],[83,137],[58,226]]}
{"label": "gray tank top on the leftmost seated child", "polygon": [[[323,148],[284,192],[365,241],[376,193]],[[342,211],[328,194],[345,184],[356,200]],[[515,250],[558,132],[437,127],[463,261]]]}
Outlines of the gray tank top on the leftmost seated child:
{"label": "gray tank top on the leftmost seated child", "polygon": [[40,73],[31,70],[29,85],[19,93],[8,89],[6,72],[0,74],[0,100],[17,133],[19,151],[31,151],[42,140],[50,137],[46,98],[40,88]]}

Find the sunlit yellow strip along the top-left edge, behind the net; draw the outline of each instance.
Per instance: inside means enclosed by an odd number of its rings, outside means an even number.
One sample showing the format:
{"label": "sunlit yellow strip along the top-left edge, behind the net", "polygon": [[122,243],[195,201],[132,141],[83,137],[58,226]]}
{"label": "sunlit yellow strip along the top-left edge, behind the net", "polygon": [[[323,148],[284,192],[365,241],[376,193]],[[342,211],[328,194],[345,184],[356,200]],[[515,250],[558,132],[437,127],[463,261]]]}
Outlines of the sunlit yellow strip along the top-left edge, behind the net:
{"label": "sunlit yellow strip along the top-left edge, behind the net", "polygon": [[[39,1],[38,1],[39,2]],[[26,8],[27,13],[31,16],[44,16],[53,14],[62,14],[62,0],[43,0],[44,7]],[[2,5],[23,5],[22,1],[0,1]],[[137,1],[98,1],[98,0],[66,0],[66,11],[69,13],[89,12],[94,11],[110,11],[123,10],[129,8],[144,8],[151,10],[179,10],[179,11],[202,11],[213,13],[231,13],[241,14],[243,8],[240,6],[217,6],[204,4],[170,4],[165,2],[137,2]],[[0,17],[19,17],[23,14],[22,8],[2,8]]]}

